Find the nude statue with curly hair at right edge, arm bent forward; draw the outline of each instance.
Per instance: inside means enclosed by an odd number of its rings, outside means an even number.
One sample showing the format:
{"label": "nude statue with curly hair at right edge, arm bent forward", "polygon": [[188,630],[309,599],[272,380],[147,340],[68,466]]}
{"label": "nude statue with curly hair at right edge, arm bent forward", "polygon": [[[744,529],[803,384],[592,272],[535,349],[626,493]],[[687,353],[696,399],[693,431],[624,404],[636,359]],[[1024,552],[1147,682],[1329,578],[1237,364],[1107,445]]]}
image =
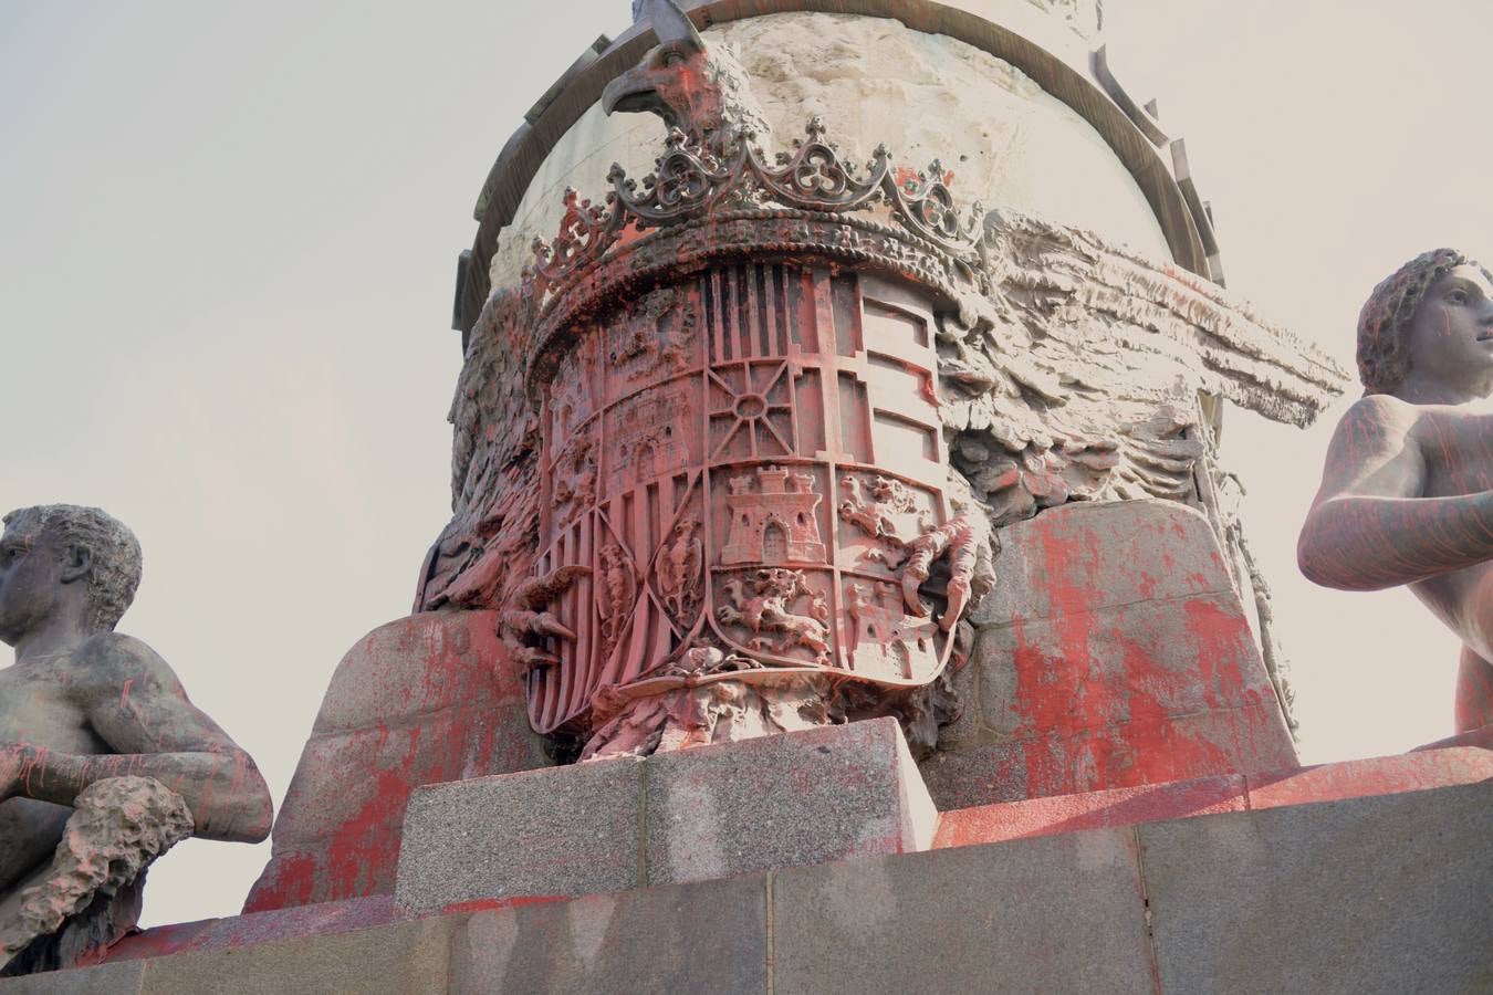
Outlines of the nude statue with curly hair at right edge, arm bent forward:
{"label": "nude statue with curly hair at right edge, arm bent forward", "polygon": [[1297,558],[1344,591],[1408,585],[1462,640],[1456,726],[1493,724],[1493,277],[1415,257],[1359,315],[1365,395],[1344,415]]}

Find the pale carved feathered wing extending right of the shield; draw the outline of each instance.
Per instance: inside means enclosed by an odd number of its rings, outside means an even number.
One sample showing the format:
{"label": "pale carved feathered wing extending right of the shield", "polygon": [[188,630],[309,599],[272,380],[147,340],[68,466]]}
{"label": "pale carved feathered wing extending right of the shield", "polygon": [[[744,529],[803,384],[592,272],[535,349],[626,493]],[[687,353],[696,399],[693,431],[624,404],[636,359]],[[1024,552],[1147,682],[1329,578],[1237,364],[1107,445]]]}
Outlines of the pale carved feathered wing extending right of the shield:
{"label": "pale carved feathered wing extending right of the shield", "polygon": [[1199,395],[1309,424],[1348,376],[1208,280],[1094,234],[991,212],[984,319],[945,322],[954,464],[996,521],[1072,498],[1191,492]]}

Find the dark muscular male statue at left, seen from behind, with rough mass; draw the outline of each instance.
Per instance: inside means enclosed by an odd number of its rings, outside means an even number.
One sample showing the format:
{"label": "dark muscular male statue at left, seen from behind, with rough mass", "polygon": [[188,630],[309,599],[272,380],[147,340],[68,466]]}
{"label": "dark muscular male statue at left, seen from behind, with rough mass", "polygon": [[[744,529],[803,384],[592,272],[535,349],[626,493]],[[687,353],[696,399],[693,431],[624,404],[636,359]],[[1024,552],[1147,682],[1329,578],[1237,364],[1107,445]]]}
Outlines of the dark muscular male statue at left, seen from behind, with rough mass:
{"label": "dark muscular male statue at left, seen from behind, with rough mass", "polygon": [[140,546],[91,507],[4,516],[0,536],[0,973],[100,959],[145,870],[190,835],[257,843],[254,761],[145,643],[113,631]]}

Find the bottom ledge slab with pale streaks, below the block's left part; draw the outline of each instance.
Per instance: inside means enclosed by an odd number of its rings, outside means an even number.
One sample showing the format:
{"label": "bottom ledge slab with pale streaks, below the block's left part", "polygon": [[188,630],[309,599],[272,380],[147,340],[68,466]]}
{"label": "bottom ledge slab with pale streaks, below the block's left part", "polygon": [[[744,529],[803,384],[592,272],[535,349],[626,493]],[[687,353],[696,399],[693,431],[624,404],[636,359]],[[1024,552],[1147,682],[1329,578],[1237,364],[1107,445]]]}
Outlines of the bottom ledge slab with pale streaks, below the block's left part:
{"label": "bottom ledge slab with pale streaks, below the block's left part", "polygon": [[761,992],[764,895],[757,876],[479,911],[452,940],[451,991]]}

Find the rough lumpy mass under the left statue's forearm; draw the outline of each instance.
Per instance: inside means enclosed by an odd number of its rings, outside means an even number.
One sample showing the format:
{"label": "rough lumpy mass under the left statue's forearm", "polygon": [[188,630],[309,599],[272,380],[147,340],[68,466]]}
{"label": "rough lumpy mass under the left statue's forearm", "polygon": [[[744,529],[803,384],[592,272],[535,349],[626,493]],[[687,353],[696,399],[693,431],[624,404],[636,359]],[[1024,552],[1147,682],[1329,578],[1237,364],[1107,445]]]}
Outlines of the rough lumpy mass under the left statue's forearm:
{"label": "rough lumpy mass under the left statue's forearm", "polygon": [[94,782],[73,809],[45,876],[4,908],[4,974],[97,959],[137,922],[145,868],[193,834],[187,803],[154,777]]}

